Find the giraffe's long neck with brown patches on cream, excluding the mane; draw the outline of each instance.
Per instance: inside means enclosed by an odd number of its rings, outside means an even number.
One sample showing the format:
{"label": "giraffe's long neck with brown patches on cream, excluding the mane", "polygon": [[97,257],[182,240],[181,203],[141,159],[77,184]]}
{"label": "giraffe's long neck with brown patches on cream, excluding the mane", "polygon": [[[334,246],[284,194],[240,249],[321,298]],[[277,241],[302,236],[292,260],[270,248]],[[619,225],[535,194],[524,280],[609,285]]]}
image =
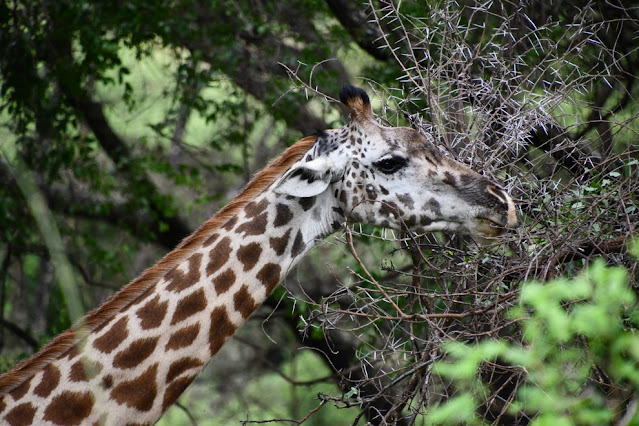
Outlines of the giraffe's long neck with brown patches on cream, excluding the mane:
{"label": "giraffe's long neck with brown patches on cream, excluding the mane", "polygon": [[176,249],[188,247],[188,255],[0,396],[0,418],[153,424],[288,271],[339,227],[334,204],[328,195],[297,198],[268,187],[223,210],[215,226],[203,225]]}

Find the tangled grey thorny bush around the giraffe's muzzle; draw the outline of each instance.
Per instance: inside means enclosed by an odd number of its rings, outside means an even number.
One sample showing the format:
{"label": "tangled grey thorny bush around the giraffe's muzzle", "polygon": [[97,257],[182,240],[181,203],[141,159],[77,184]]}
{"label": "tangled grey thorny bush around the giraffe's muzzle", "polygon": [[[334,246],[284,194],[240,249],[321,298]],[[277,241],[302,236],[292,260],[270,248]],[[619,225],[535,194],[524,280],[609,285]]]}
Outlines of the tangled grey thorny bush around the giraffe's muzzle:
{"label": "tangled grey thorny bush around the giraffe's muzzle", "polygon": [[[637,85],[628,71],[637,69],[639,52],[629,40],[623,51],[619,40],[609,43],[616,18],[595,4],[563,21],[552,8],[492,2],[442,2],[425,17],[393,1],[368,7],[403,70],[395,92],[368,81],[383,103],[380,120],[402,124],[406,117],[445,155],[500,179],[522,223],[484,246],[459,236],[387,238],[356,226],[341,237],[353,281],[317,302],[305,323],[355,335],[362,369],[375,373],[358,386],[378,384],[378,395],[394,401],[380,424],[414,424],[456,393],[430,369],[444,340],[518,341],[518,323],[505,313],[525,281],[575,275],[603,257],[628,267],[638,288],[627,246],[639,223]],[[639,28],[638,20],[623,19]],[[326,96],[287,72],[298,89]],[[377,240],[376,247],[356,234]],[[379,240],[387,247],[381,262]],[[499,360],[483,365],[485,421],[534,417],[508,410],[524,377]],[[364,408],[375,396],[322,398]],[[627,417],[621,407],[619,416]]]}

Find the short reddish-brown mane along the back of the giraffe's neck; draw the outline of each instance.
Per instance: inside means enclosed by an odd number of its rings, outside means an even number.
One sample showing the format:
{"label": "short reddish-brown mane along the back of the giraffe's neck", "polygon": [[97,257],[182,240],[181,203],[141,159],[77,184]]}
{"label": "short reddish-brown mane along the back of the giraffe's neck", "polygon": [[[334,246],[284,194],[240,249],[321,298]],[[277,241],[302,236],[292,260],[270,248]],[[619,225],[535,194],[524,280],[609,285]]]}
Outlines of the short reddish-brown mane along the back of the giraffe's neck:
{"label": "short reddish-brown mane along the back of the giraffe's neck", "polygon": [[154,266],[111,295],[99,307],[87,313],[69,330],[54,337],[40,351],[2,374],[0,376],[0,395],[18,387],[54,359],[60,358],[67,352],[77,350],[88,333],[106,325],[118,312],[144,295],[168,271],[187,258],[215,229],[222,226],[237,211],[274,183],[293,163],[304,156],[316,140],[317,136],[309,136],[289,147],[284,153],[273,159],[266,168],[258,172],[233,201],[221,208],[195,232],[184,238],[175,249],[166,254]]}

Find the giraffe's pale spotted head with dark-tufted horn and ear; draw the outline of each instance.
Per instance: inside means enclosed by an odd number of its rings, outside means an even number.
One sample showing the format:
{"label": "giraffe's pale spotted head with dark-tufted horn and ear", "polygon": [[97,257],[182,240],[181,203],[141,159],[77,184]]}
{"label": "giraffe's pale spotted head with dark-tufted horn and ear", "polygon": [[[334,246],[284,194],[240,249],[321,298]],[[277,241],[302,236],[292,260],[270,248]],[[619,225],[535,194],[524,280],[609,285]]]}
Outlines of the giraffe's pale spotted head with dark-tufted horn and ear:
{"label": "giraffe's pale spotted head with dark-tufted horn and ear", "polygon": [[[361,89],[345,85],[346,126],[322,132],[275,191],[320,197],[352,222],[494,237],[517,225],[499,185],[442,153],[418,131],[385,127]],[[336,225],[333,224],[333,227]]]}

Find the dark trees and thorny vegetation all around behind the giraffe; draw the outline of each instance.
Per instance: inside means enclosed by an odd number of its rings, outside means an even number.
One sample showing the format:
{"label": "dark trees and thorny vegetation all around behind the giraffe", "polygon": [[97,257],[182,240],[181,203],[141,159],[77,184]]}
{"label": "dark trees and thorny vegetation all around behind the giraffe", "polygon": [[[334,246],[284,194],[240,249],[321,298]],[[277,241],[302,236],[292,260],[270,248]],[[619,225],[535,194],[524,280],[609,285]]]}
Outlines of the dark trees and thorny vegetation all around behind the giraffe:
{"label": "dark trees and thorny vegetation all around behind the giraffe", "polygon": [[[340,126],[334,97],[350,82],[382,122],[503,182],[522,226],[486,245],[350,226],[163,421],[431,421],[464,392],[432,368],[443,342],[521,344],[508,312],[524,282],[603,258],[636,292],[638,15],[616,0],[1,2],[2,366],[172,249],[269,158]],[[591,367],[567,397],[632,418],[637,384],[573,340]],[[543,415],[511,404],[532,377],[521,366],[495,356],[473,377],[473,421]]]}

